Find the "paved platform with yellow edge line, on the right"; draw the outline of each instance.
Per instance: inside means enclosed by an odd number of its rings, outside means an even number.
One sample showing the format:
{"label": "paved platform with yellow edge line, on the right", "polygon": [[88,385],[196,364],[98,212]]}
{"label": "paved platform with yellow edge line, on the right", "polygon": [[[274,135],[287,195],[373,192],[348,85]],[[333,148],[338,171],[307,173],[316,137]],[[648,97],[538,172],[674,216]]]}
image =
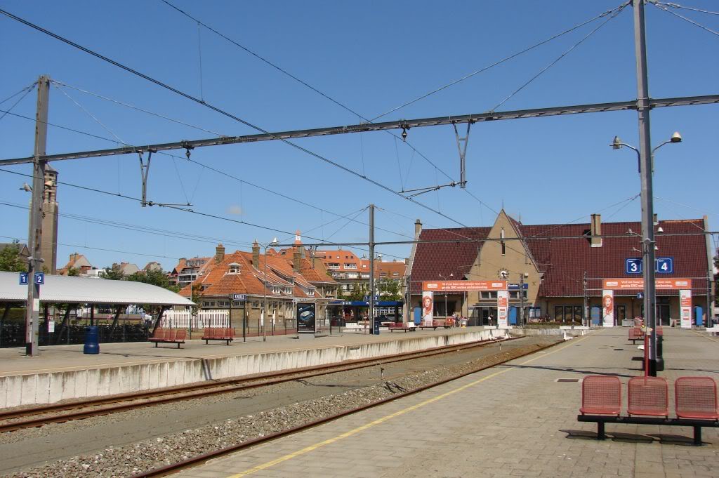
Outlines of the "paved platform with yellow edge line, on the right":
{"label": "paved platform with yellow edge line, on the right", "polygon": [[[585,374],[641,375],[626,328],[609,328],[546,351],[232,454],[180,475],[213,477],[716,477],[719,431],[691,446],[684,427],[578,423]],[[664,331],[670,384],[719,380],[719,340]],[[626,385],[625,385],[626,394]],[[672,394],[670,394],[672,395]],[[626,402],[625,402],[626,403]],[[673,409],[673,403],[672,403]]]}

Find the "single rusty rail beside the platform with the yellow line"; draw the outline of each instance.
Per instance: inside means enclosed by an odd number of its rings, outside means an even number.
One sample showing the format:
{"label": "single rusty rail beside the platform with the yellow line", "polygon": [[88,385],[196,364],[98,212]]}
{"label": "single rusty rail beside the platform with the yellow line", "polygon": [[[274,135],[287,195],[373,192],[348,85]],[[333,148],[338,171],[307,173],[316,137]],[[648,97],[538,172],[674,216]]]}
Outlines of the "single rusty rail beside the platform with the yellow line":
{"label": "single rusty rail beside the platform with the yellow line", "polygon": [[359,413],[363,410],[367,410],[369,408],[375,408],[379,405],[384,405],[385,403],[390,403],[395,400],[399,400],[400,398],[409,397],[411,395],[415,395],[419,392],[424,392],[425,390],[429,390],[434,387],[439,387],[439,385],[444,385],[448,382],[452,382],[454,380],[458,380],[462,377],[467,377],[467,375],[475,374],[477,372],[482,372],[482,370],[490,369],[492,367],[497,367],[498,365],[505,364],[507,362],[511,362],[512,360],[521,359],[521,357],[526,357],[527,355],[536,354],[536,352],[549,349],[549,347],[556,346],[558,344],[562,344],[564,342],[558,341],[554,344],[549,344],[547,346],[539,347],[538,349],[528,351],[524,354],[519,354],[516,357],[510,357],[506,360],[502,360],[500,362],[497,362],[496,364],[492,365],[485,365],[482,367],[477,367],[476,369],[470,370],[470,372],[463,372],[461,374],[454,375],[453,377],[450,377],[448,379],[440,380],[439,382],[434,382],[430,385],[423,385],[422,387],[409,390],[408,392],[402,392],[398,395],[393,395],[392,397],[383,398],[382,400],[377,400],[376,402],[362,405],[357,408],[352,408],[351,410],[345,410],[344,412],[335,413],[334,415],[329,415],[328,417],[320,418],[319,420],[313,420],[308,423],[304,423],[303,425],[294,426],[292,428],[288,428],[287,430],[278,431],[276,433],[271,433],[266,436],[262,436],[259,438],[253,438],[252,440],[244,441],[242,443],[238,443],[237,445],[227,446],[223,449],[219,449],[216,451],[208,451],[203,454],[199,454],[197,456],[192,456],[189,459],[178,461],[177,463],[160,466],[159,468],[151,469],[147,472],[142,472],[139,474],[132,475],[130,478],[155,478],[155,477],[165,477],[169,474],[174,474],[175,472],[179,472],[183,469],[188,469],[193,466],[198,466],[201,464],[206,463],[207,461],[210,461],[211,459],[219,458],[220,456],[224,456],[227,454],[234,453],[236,451],[241,451],[243,449],[247,449],[251,446],[256,446],[261,443],[267,443],[268,441],[273,441],[278,438],[282,438],[283,436],[292,435],[293,433],[298,433],[300,431],[308,430],[309,428],[314,428],[316,426],[324,425],[324,423],[329,423],[331,421],[337,420],[339,418],[346,417],[347,415],[353,415],[354,413]]}

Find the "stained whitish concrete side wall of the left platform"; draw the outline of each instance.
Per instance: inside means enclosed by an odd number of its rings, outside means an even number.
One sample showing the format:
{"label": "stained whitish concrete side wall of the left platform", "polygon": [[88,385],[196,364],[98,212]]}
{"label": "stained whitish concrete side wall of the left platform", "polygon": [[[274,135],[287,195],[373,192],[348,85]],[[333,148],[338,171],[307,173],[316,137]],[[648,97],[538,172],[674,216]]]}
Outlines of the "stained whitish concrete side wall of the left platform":
{"label": "stained whitish concrete side wall of the left platform", "polygon": [[[505,331],[493,330],[495,337]],[[276,351],[219,359],[183,359],[124,367],[68,370],[0,377],[0,408],[55,403],[81,397],[98,397],[193,382],[242,377],[250,374],[367,359],[434,347],[465,344],[489,338],[490,331],[467,334],[419,336],[413,339],[375,342],[324,349]]]}

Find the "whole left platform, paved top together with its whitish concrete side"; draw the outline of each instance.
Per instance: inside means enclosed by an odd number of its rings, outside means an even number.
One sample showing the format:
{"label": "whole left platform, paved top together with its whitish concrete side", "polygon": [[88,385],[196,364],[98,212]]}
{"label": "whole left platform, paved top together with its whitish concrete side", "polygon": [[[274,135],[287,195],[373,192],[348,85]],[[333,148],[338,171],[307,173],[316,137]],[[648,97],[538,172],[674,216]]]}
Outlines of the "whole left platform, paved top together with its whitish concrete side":
{"label": "whole left platform, paved top together with its whitish concrete side", "polygon": [[421,329],[380,335],[347,332],[341,336],[267,336],[205,344],[201,339],[175,344],[125,342],[100,344],[99,354],[82,345],[42,346],[37,357],[24,348],[0,349],[0,408],[55,403],[81,397],[116,395],[208,380],[313,367],[500,338],[506,331],[468,327]]}

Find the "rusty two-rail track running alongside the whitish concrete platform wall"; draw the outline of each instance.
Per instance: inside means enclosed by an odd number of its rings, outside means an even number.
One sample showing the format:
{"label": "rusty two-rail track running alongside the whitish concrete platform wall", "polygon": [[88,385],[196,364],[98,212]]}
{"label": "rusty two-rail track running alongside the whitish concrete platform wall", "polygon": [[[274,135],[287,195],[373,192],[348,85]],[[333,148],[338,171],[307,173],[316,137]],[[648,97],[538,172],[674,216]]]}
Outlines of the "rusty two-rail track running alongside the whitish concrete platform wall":
{"label": "rusty two-rail track running alongside the whitish concrete platform wall", "polygon": [[257,387],[277,385],[293,380],[319,377],[336,372],[347,372],[354,369],[375,367],[382,364],[401,362],[406,360],[432,357],[440,354],[449,354],[456,351],[472,349],[475,347],[493,344],[498,341],[511,341],[516,339],[475,341],[467,344],[441,346],[422,351],[406,352],[372,359],[358,359],[340,364],[328,364],[320,367],[292,369],[270,374],[257,374],[237,379],[219,380],[216,382],[183,385],[170,389],[150,390],[132,394],[115,395],[113,397],[94,398],[81,402],[44,405],[40,407],[9,410],[0,413],[0,433],[22,430],[23,428],[37,428],[50,423],[64,423],[71,420],[82,420],[111,413],[119,413],[135,408],[162,405],[179,400],[191,400],[211,395],[250,390]]}

